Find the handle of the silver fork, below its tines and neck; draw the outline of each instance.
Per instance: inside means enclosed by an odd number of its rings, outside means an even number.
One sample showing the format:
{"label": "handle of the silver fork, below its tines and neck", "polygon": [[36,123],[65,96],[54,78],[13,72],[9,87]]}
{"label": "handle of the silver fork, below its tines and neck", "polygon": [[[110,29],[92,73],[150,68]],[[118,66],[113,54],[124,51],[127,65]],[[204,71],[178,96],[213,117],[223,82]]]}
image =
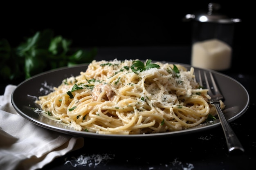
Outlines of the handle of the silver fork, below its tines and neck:
{"label": "handle of the silver fork, below its tines and neck", "polygon": [[245,150],[244,150],[242,144],[240,143],[235,132],[232,130],[231,126],[229,125],[227,119],[225,118],[225,116],[220,108],[220,102],[210,102],[210,104],[215,106],[215,108],[217,110],[218,117],[220,119],[220,124],[221,124],[222,129],[225,134],[225,138],[227,141],[227,148],[228,148],[229,152],[231,152],[232,150],[241,150],[242,152],[244,152]]}

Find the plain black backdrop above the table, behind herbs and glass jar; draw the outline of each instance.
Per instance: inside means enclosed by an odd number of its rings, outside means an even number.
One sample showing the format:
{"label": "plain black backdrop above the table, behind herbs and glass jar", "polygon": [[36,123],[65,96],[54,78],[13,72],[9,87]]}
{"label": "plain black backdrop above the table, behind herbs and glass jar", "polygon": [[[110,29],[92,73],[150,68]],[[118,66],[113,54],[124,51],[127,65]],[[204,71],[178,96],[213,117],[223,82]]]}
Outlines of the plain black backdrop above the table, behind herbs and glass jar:
{"label": "plain black backdrop above the table, behind herbs and glass jar", "polygon": [[0,38],[16,47],[36,31],[52,29],[79,48],[190,46],[191,22],[182,19],[188,13],[206,12],[210,2],[221,4],[220,13],[242,20],[235,25],[234,66],[252,64],[248,61],[255,44],[254,6],[245,1],[11,2],[1,6]]}

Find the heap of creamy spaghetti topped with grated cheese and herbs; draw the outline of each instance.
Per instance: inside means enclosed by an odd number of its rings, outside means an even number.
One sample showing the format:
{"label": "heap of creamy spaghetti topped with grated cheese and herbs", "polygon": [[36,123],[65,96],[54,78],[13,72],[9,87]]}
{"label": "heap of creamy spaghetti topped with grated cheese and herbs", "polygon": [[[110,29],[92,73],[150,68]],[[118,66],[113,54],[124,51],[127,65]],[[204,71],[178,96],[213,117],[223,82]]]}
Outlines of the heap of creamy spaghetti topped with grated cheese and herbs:
{"label": "heap of creamy spaghetti topped with grated cheese and herbs", "polygon": [[[92,61],[36,101],[75,130],[99,134],[147,134],[191,128],[216,110],[194,68],[146,60]],[[224,104],[222,103],[222,108]]]}

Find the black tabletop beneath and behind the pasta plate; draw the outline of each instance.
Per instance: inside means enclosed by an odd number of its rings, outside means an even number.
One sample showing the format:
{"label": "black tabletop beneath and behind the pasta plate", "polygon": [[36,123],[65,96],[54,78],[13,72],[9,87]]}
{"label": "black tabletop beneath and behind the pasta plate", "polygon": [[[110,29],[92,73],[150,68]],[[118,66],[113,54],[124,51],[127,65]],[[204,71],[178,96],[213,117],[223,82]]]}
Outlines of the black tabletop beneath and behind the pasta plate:
{"label": "black tabletop beneath and behind the pasta plate", "polygon": [[[190,64],[189,46],[145,46],[99,48],[96,60],[151,59]],[[239,54],[236,54],[239,55]],[[248,69],[237,69],[239,62],[222,73],[236,79],[248,91],[249,108],[230,122],[245,152],[227,150],[221,126],[192,134],[154,139],[84,138],[79,150],[58,157],[43,170],[241,170],[256,167],[255,79]],[[6,84],[1,84],[1,95]],[[236,93],[236,92],[234,92]],[[238,99],[239,100],[239,99]],[[100,158],[100,159],[98,159]],[[99,161],[101,160],[101,161]]]}

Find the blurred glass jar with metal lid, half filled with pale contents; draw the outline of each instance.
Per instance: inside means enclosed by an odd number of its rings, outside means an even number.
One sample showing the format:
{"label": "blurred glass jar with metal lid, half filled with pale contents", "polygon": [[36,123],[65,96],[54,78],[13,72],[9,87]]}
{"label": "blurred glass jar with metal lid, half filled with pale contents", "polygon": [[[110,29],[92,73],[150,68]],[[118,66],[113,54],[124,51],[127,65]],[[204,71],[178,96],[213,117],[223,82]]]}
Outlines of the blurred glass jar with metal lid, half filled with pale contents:
{"label": "blurred glass jar with metal lid, half filled with pale contents", "polygon": [[192,20],[191,65],[225,71],[231,67],[234,24],[238,18],[218,13],[220,4],[209,3],[207,13],[187,14]]}

